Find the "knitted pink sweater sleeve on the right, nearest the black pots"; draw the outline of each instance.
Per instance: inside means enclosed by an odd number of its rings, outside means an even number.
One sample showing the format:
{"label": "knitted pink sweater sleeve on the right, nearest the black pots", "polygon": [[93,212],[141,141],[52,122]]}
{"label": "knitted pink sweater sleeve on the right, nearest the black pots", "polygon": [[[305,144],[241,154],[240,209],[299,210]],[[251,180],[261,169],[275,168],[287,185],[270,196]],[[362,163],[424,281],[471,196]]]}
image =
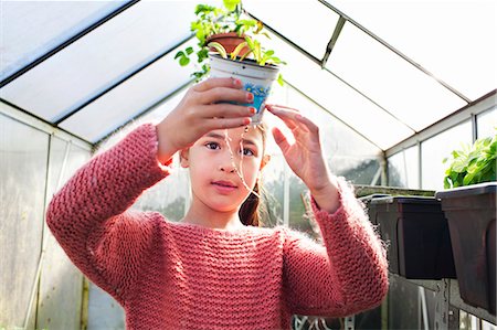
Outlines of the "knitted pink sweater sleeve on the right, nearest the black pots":
{"label": "knitted pink sweater sleeve on the right, nearest the black pots", "polygon": [[288,231],[284,288],[293,313],[345,317],[377,307],[387,295],[384,246],[352,190],[338,181],[340,207],[334,214],[313,200],[324,246]]}

